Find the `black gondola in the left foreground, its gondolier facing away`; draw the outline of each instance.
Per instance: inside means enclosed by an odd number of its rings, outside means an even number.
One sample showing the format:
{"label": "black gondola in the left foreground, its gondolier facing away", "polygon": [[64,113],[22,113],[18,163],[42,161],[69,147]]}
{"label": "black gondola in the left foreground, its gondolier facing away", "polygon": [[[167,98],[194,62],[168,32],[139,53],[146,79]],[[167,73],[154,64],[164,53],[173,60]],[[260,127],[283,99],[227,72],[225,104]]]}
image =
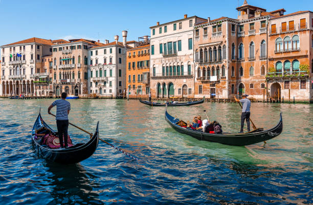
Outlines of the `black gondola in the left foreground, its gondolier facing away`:
{"label": "black gondola in the left foreground, its gondolier facing away", "polygon": [[98,127],[99,121],[95,134],[87,143],[78,143],[65,149],[51,149],[47,145],[41,145],[38,136],[47,133],[55,134],[55,132],[43,121],[39,112],[32,130],[32,146],[37,151],[37,155],[46,160],[60,164],[75,164],[89,158],[96,151],[99,142]]}

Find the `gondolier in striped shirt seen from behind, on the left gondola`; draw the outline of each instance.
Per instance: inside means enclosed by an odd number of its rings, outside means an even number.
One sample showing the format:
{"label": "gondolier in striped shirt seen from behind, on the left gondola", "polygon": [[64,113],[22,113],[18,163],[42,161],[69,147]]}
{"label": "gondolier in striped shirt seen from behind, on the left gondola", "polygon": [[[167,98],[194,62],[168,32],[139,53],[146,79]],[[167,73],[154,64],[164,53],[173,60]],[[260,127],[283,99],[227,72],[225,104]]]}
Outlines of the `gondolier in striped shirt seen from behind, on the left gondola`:
{"label": "gondolier in striped shirt seen from behind, on the left gondola", "polygon": [[55,100],[51,106],[48,108],[48,113],[51,114],[50,110],[54,106],[57,107],[56,121],[58,127],[58,137],[60,140],[60,147],[63,147],[63,136],[64,136],[64,146],[68,147],[68,128],[69,128],[69,113],[71,110],[71,104],[69,101],[65,100],[67,94],[63,92],[61,94],[62,99]]}

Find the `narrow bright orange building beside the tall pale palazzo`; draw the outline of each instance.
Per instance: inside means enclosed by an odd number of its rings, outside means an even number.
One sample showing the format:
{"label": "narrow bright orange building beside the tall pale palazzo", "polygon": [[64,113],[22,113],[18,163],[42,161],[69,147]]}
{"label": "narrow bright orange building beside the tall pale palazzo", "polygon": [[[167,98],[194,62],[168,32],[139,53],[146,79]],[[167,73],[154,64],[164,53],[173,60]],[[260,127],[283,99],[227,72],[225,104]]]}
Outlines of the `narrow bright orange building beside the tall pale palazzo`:
{"label": "narrow bright orange building beside the tall pale palazzo", "polygon": [[127,49],[126,83],[130,98],[147,97],[150,92],[150,40],[139,40],[139,46]]}

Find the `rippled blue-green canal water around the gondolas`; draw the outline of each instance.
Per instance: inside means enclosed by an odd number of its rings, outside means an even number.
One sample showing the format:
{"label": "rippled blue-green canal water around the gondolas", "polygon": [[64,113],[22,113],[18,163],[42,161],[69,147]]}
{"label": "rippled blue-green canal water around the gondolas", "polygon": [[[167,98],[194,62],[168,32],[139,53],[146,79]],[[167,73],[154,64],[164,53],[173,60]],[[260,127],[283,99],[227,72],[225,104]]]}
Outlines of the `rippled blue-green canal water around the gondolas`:
{"label": "rippled blue-green canal water around the gondolas", "polygon": [[[283,116],[280,136],[245,147],[198,141],[175,132],[164,108],[137,100],[71,100],[70,122],[138,158],[99,141],[94,155],[76,165],[38,159],[31,129],[42,118],[56,129],[52,99],[0,99],[2,204],[103,203],[313,203],[313,105],[253,103],[251,118],[269,129]],[[169,107],[185,121],[207,110],[223,131],[238,132],[237,104]],[[53,109],[55,113],[55,108]],[[69,127],[74,142],[88,136]]]}

